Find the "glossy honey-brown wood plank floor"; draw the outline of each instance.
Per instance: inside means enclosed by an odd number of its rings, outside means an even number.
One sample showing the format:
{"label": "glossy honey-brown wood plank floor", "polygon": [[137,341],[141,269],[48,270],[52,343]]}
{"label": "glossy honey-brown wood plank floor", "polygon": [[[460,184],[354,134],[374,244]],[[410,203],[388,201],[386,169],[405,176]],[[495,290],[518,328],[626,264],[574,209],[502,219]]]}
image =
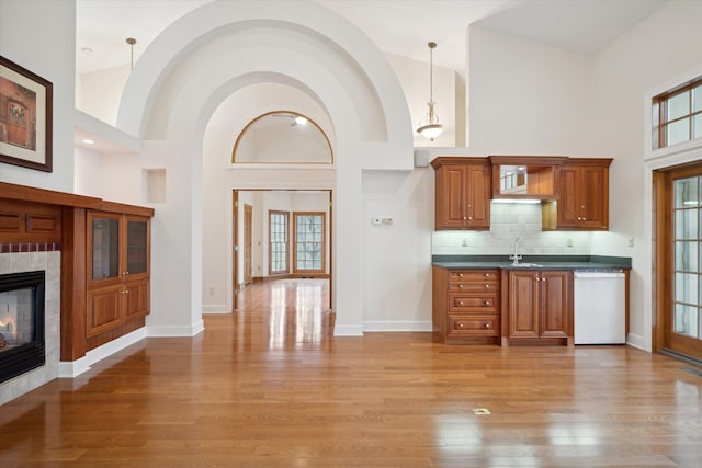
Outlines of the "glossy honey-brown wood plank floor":
{"label": "glossy honey-brown wood plank floor", "polygon": [[702,466],[702,377],[686,363],[332,338],[315,282],[257,285],[195,338],[146,339],[0,407],[0,466]]}

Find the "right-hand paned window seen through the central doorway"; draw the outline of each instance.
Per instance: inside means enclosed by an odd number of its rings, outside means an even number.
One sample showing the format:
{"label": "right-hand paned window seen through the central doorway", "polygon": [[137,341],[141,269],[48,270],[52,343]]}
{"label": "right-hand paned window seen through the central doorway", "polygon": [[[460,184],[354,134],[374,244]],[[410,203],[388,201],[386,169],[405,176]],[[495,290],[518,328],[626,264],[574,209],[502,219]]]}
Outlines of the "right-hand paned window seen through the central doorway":
{"label": "right-hand paned window seen through the central doorway", "polygon": [[295,213],[295,272],[325,271],[325,214]]}

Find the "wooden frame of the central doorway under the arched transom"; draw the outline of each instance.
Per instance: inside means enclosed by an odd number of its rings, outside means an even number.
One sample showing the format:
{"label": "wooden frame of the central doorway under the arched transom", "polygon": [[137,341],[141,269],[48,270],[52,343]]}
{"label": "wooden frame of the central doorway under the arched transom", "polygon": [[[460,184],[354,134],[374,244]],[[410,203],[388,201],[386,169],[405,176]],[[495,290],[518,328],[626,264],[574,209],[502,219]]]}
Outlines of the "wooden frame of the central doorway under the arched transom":
{"label": "wooden frame of the central doorway under the arched transom", "polygon": [[236,312],[239,308],[239,277],[244,275],[239,270],[239,192],[326,192],[329,195],[329,226],[327,242],[329,246],[329,256],[327,259],[329,265],[329,310],[333,310],[333,190],[331,189],[231,189],[231,311]]}

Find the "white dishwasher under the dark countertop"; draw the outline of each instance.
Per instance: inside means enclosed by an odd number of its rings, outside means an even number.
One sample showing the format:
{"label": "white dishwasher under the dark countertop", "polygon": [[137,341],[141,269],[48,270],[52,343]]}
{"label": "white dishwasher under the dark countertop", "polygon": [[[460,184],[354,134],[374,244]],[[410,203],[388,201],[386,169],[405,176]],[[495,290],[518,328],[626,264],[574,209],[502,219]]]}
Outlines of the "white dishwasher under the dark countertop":
{"label": "white dishwasher under the dark countertop", "polygon": [[626,342],[625,284],[621,272],[574,272],[575,344]]}

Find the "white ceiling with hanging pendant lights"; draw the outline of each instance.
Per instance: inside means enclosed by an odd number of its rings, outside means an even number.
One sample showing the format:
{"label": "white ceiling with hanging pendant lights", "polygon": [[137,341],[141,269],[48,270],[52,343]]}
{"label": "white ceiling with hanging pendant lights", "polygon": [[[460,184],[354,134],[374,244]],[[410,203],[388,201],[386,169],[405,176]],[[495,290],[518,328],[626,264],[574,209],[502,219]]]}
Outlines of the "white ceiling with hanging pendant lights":
{"label": "white ceiling with hanging pendant lights", "polygon": [[[169,24],[212,0],[77,0],[79,73],[134,60]],[[237,0],[215,0],[237,1]],[[288,0],[293,1],[293,0]],[[347,18],[381,50],[465,69],[465,31],[478,24],[579,54],[595,54],[666,0],[317,0]]]}

